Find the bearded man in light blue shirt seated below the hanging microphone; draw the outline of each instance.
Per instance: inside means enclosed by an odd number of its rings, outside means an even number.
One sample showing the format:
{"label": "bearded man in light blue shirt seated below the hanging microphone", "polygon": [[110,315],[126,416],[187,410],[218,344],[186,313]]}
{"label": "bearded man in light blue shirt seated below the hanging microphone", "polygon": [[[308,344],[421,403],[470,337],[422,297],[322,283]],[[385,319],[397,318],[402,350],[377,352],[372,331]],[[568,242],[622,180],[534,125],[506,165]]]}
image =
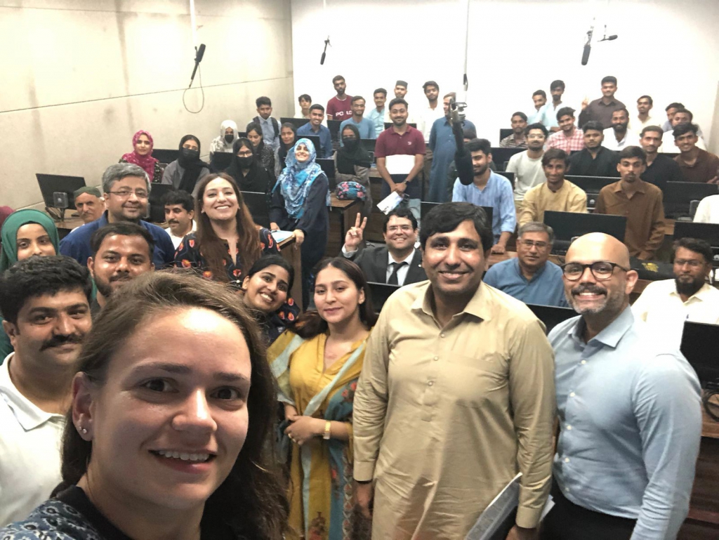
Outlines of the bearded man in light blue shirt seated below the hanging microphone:
{"label": "bearded man in light blue shirt seated below the hanging microphone", "polygon": [[[433,132],[437,122],[441,122],[441,119],[435,122],[432,127]],[[493,209],[492,232],[495,237],[492,252],[504,253],[507,249],[507,242],[517,226],[517,214],[514,206],[512,184],[504,176],[490,170],[491,150],[492,147],[487,139],[472,139],[467,143],[467,151],[472,155],[472,169],[475,173],[474,182],[469,186],[464,186],[457,178],[454,181],[452,202],[491,206]],[[432,167],[434,168],[434,163]]]}

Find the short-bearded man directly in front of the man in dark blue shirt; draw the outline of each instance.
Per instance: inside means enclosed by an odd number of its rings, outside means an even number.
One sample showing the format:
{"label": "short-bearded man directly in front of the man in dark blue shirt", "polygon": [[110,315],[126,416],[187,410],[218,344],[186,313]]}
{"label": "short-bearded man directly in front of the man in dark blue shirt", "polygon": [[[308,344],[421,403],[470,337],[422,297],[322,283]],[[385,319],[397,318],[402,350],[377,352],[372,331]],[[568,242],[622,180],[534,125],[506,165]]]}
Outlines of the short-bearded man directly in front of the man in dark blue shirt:
{"label": "short-bearded man directly in front of the man in dark blue shirt", "polygon": [[91,304],[93,317],[119,288],[138,275],[155,270],[150,233],[134,223],[113,223],[101,227],[90,241],[92,257],[88,270],[97,285],[97,297]]}

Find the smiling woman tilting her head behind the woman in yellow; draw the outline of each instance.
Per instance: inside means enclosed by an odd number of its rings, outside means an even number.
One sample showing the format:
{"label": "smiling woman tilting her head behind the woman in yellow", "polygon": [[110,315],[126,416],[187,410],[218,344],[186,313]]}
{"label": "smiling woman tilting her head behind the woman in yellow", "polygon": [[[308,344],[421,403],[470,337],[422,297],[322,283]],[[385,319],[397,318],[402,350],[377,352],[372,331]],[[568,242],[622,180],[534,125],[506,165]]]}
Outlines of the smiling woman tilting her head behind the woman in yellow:
{"label": "smiling woman tilting her head behind the woman in yellow", "polygon": [[295,269],[280,255],[265,255],[244,276],[244,305],[260,324],[267,344],[293,326],[300,313],[290,297],[294,280]]}

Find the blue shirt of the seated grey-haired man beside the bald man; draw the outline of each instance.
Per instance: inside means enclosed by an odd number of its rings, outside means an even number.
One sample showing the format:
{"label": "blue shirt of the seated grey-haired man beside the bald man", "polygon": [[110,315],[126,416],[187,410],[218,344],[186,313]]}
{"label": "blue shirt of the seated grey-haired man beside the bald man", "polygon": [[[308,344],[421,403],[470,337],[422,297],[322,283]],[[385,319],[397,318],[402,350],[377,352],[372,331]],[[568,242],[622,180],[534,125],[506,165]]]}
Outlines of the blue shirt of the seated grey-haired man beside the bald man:
{"label": "blue shirt of the seated grey-haired man beside the bald man", "polygon": [[544,263],[532,276],[532,280],[527,281],[519,267],[518,257],[503,260],[487,270],[482,281],[524,303],[562,308],[568,305],[564,296],[562,268],[551,261]]}

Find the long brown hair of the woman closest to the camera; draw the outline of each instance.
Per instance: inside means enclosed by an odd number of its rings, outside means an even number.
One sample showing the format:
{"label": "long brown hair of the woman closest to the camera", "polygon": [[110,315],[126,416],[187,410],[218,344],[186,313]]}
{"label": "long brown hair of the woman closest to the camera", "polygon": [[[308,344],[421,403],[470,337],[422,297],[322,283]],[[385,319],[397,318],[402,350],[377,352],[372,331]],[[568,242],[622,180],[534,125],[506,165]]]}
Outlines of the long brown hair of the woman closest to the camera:
{"label": "long brown hair of the woman closest to the camera", "polygon": [[[132,341],[139,326],[183,308],[209,309],[234,323],[247,342],[252,365],[247,438],[229,475],[206,501],[203,524],[224,524],[238,539],[280,540],[286,529],[287,502],[273,449],[275,377],[267,363],[260,329],[232,290],[195,275],[150,272],[139,276],[124,286],[122,295],[113,295],[93,321],[79,358],[79,371],[93,384],[104,385],[110,362],[122,362],[116,353]],[[63,483],[55,488],[56,493],[77,484],[92,459],[92,442],[78,434],[72,411],[65,425],[62,454]]]}

